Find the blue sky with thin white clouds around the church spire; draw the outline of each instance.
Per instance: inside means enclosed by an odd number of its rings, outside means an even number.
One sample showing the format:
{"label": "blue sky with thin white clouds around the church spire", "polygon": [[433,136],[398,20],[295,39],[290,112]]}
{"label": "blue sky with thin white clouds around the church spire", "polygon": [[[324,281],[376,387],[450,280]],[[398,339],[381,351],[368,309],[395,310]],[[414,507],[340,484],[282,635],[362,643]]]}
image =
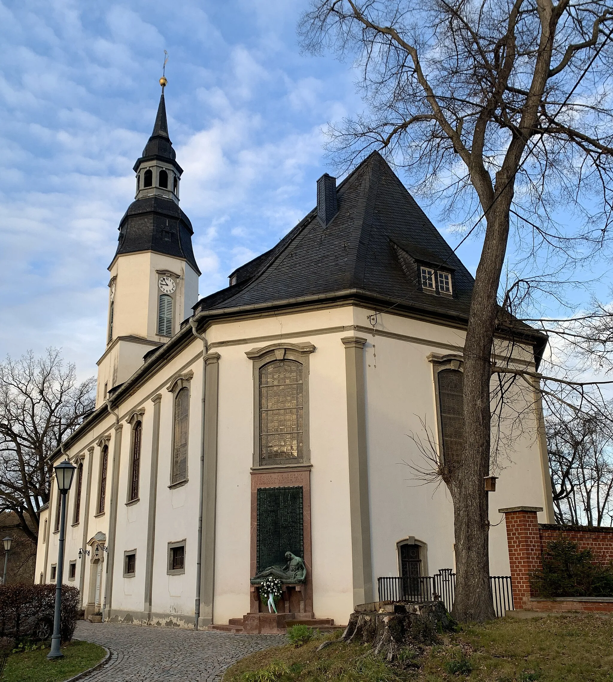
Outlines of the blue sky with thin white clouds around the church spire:
{"label": "blue sky with thin white clouds around the church spire", "polygon": [[[107,267],[153,128],[163,50],[200,295],[313,208],[317,178],[333,171],[326,124],[364,104],[350,61],[300,52],[306,6],[0,0],[0,357],[54,346],[79,376],[95,374]],[[473,273],[478,246],[458,250]]]}

